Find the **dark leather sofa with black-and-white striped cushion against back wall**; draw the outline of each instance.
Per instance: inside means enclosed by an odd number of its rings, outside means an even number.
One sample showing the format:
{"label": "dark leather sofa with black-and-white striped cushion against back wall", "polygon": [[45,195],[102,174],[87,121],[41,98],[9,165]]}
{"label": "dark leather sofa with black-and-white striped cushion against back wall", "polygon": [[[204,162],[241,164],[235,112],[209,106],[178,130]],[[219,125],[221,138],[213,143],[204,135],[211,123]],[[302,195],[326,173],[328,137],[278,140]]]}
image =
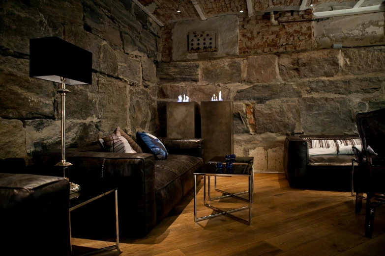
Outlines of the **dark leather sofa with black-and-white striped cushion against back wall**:
{"label": "dark leather sofa with black-and-white striped cushion against back wall", "polygon": [[349,191],[352,185],[354,155],[309,156],[308,144],[303,139],[308,137],[331,140],[359,138],[358,135],[288,136],[285,140],[284,170],[290,186]]}

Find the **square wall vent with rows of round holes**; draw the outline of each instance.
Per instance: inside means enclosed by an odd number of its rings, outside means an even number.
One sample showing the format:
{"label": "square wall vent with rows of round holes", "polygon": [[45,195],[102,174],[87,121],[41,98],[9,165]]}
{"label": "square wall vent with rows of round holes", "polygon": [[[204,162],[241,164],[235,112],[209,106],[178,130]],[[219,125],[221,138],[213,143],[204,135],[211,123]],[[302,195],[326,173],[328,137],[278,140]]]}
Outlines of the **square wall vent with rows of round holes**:
{"label": "square wall vent with rows of round holes", "polygon": [[187,41],[191,53],[218,51],[218,30],[189,32]]}

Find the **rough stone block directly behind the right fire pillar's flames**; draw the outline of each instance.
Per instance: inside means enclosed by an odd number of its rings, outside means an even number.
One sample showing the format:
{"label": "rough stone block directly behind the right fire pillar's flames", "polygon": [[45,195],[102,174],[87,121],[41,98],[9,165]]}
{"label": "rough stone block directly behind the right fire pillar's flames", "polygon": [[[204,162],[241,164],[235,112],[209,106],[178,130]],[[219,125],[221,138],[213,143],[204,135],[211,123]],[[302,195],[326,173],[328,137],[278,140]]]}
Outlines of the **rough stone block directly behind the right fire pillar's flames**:
{"label": "rough stone block directly behind the right fire pillar's flames", "polygon": [[190,97],[190,101],[202,102],[211,101],[213,94],[218,97],[221,91],[222,100],[230,100],[230,89],[220,87],[214,84],[187,86],[187,96]]}

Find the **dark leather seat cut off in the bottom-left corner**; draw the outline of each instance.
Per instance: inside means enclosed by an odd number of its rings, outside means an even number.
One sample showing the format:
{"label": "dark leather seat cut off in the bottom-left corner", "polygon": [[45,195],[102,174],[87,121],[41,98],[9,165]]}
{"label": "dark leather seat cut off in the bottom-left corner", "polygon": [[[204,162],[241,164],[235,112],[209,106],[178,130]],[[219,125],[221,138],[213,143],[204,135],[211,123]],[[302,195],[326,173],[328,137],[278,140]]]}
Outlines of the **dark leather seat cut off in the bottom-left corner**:
{"label": "dark leather seat cut off in the bottom-left corner", "polygon": [[0,173],[0,255],[70,255],[69,183]]}

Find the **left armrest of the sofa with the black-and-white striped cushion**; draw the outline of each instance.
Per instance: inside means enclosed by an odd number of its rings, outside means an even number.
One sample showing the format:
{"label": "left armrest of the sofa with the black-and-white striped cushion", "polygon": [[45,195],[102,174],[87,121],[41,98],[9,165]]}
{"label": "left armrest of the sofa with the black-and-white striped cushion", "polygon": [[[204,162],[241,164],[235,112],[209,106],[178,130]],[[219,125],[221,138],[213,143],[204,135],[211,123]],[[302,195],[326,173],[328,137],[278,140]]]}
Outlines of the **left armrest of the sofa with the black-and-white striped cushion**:
{"label": "left armrest of the sofa with the black-and-white striped cushion", "polygon": [[288,136],[285,140],[284,169],[291,187],[300,185],[306,176],[309,161],[306,140],[298,136]]}

